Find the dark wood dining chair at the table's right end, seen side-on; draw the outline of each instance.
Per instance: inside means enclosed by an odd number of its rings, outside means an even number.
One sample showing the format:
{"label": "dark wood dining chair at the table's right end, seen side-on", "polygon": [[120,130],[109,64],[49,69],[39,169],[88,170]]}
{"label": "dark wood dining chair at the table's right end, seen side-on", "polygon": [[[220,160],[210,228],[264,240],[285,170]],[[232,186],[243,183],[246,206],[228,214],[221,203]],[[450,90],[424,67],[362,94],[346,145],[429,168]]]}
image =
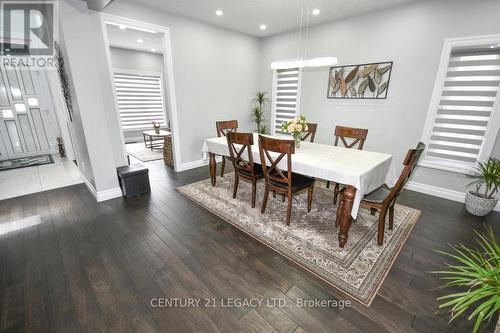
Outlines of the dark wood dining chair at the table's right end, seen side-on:
{"label": "dark wood dining chair at the table's right end, seen side-on", "polygon": [[[389,213],[389,230],[392,230],[394,223],[394,205],[396,204],[399,194],[401,194],[401,191],[403,191],[406,183],[411,178],[413,170],[415,169],[415,166],[417,165],[424,150],[425,144],[423,142],[419,142],[416,148],[408,151],[403,162],[403,171],[401,172],[396,185],[394,185],[392,189],[384,184],[375,191],[366,194],[361,201],[361,205],[363,207],[370,208],[372,215],[375,215],[377,211],[379,211],[377,228],[377,244],[379,246],[384,244],[385,218],[387,213]],[[342,192],[340,192],[340,196],[335,226],[337,226],[339,212],[342,209]]]}

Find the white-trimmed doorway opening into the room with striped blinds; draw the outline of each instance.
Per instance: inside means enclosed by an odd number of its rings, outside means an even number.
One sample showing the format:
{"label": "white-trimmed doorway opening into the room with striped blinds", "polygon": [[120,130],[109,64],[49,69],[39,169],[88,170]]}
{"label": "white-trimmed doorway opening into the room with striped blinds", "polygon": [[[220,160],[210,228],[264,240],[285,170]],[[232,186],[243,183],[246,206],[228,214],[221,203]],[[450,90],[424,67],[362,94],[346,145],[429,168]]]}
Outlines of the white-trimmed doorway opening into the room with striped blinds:
{"label": "white-trimmed doorway opening into the room with striped blinds", "polygon": [[130,164],[180,167],[168,28],[102,14],[122,143]]}

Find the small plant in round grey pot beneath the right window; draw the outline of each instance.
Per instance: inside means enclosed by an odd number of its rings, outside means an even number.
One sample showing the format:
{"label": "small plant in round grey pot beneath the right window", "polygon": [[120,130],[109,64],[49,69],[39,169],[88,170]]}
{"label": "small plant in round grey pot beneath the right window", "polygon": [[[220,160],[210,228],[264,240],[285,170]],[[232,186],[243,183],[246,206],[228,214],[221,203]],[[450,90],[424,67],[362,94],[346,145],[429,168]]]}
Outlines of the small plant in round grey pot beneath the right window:
{"label": "small plant in round grey pot beneath the right window", "polygon": [[495,194],[500,189],[500,160],[490,157],[487,162],[478,162],[474,174],[475,180],[469,184],[474,185],[475,191],[467,191],[465,195],[465,208],[476,216],[490,213],[498,203]]}

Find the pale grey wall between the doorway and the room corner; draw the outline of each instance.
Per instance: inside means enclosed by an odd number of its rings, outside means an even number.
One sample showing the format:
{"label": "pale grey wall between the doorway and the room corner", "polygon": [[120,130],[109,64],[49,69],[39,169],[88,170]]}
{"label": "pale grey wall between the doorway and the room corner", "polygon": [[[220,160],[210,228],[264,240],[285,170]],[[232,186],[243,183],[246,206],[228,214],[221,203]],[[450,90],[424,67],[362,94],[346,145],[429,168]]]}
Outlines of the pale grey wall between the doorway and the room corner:
{"label": "pale grey wall between the doorway and the room corner", "polygon": [[170,29],[182,163],[201,159],[215,121],[238,119],[251,129],[250,100],[258,89],[259,40],[146,6],[114,1],[104,12]]}

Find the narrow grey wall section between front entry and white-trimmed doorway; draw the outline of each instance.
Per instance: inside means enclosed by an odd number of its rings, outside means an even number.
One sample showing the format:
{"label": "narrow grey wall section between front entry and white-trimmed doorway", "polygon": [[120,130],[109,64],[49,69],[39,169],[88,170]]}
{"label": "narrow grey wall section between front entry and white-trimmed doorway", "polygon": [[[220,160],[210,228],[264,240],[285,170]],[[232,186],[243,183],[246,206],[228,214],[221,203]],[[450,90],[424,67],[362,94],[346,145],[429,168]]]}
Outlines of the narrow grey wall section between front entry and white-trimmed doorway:
{"label": "narrow grey wall section between front entry and white-trimmed doorway", "polygon": [[85,2],[61,1],[60,11],[60,44],[71,84],[74,107],[71,126],[79,168],[98,200],[119,196],[115,159],[119,154],[113,151],[116,124],[110,123],[112,110],[107,108],[104,93],[108,91],[98,61],[98,51],[103,52],[103,45],[96,42],[97,29],[91,24]]}

